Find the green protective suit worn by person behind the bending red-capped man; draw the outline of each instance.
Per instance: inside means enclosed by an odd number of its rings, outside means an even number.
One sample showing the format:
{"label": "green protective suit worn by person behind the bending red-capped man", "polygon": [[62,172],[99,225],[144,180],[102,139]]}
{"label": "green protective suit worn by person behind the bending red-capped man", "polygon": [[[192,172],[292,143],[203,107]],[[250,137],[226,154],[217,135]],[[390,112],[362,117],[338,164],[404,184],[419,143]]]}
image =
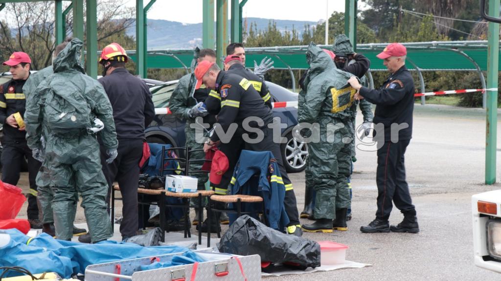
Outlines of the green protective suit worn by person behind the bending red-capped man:
{"label": "green protective suit worn by person behind the bending red-capped man", "polygon": [[[192,63],[192,68],[196,67],[196,58],[198,57],[198,52],[195,49],[194,63]],[[172,113],[183,120],[186,120],[186,126],[184,128],[184,133],[186,135],[186,147],[191,147],[191,149],[202,149],[203,148],[203,138],[204,135],[199,135],[198,139],[195,136],[195,128],[193,126],[198,126],[200,122],[195,122],[195,118],[189,116],[188,112],[194,105],[197,104],[197,99],[193,96],[195,94],[195,84],[196,78],[195,74],[190,73],[182,76],[177,83],[176,88],[172,92],[169,100],[169,109]],[[209,89],[202,87],[197,90],[197,92],[202,92],[202,95],[208,95]],[[205,94],[203,91],[207,91]],[[200,100],[202,101],[202,100]],[[207,128],[208,129],[208,128]],[[190,153],[190,159],[204,159],[205,153],[203,150],[193,151]],[[195,161],[189,163],[189,171],[199,171],[202,168],[203,161]],[[204,172],[191,173],[190,175],[198,178],[198,190],[205,190],[205,182],[208,180],[208,174]]]}

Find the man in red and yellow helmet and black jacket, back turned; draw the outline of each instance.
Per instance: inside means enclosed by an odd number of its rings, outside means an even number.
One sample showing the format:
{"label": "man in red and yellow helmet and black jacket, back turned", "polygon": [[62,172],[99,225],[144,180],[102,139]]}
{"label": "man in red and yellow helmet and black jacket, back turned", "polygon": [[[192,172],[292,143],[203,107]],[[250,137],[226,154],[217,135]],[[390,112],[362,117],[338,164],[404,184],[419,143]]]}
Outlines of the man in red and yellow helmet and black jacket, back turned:
{"label": "man in red and yellow helmet and black jacket, back turned", "polygon": [[[122,239],[136,235],[138,230],[137,187],[139,161],[146,141],[144,129],[155,116],[155,107],[146,83],[130,74],[125,68],[128,57],[117,43],[104,47],[100,63],[104,77],[99,79],[113,107],[113,118],[118,138],[118,156],[106,163],[101,149],[103,172],[110,185],[117,180],[123,197]],[[111,190],[111,189],[110,189]]]}

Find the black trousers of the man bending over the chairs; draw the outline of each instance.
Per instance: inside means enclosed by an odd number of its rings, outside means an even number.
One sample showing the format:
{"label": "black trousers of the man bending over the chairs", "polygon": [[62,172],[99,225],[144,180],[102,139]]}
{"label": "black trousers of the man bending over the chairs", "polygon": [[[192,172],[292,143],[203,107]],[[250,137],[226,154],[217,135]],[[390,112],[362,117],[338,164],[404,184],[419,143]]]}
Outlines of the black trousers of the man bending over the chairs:
{"label": "black trousers of the man bending over the chairs", "polygon": [[[253,136],[251,136],[253,138]],[[284,166],[284,162],[282,159],[282,152],[280,150],[280,143],[273,142],[273,131],[271,128],[267,128],[265,130],[265,137],[262,141],[258,143],[248,143],[243,141],[240,135],[234,136],[229,143],[221,143],[219,144],[219,149],[228,157],[229,168],[223,174],[221,179],[220,188],[226,189],[229,181],[231,180],[231,176],[233,175],[233,170],[235,168],[236,162],[240,156],[240,151],[242,149],[252,150],[252,151],[271,151],[275,158],[277,159],[277,163],[279,164],[280,173],[282,175],[282,179],[286,185],[284,206],[289,216],[289,225],[298,225],[299,222],[299,212],[298,212],[298,203],[296,200],[296,194],[294,193],[294,189],[292,188],[291,180],[289,179],[289,175]]]}

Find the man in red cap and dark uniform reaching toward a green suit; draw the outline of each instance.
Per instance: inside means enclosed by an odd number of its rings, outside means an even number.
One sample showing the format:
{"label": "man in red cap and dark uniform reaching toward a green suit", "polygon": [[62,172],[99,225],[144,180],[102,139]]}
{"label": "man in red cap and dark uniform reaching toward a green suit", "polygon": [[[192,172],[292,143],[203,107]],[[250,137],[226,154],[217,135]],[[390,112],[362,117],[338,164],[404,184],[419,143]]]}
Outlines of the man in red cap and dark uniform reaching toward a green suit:
{"label": "man in red cap and dark uniform reaching toward a green suit", "polygon": [[[391,72],[380,89],[360,85],[356,77],[348,82],[358,90],[355,98],[365,98],[376,104],[374,123],[382,123],[384,131],[375,131],[377,147],[376,183],[378,187],[376,219],[360,231],[419,232],[416,209],[412,204],[409,186],[405,181],[404,154],[412,137],[412,111],[414,109],[414,81],[405,67],[407,50],[400,43],[391,43],[377,55]],[[400,209],[404,219],[398,225],[389,225],[393,207]]]}

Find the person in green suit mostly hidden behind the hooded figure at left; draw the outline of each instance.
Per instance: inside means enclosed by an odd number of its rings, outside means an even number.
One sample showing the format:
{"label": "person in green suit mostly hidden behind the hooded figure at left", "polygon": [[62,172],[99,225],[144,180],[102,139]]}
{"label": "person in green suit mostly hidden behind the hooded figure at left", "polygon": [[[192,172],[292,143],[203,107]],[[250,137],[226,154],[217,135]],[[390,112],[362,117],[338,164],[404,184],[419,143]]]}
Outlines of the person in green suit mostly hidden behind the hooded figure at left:
{"label": "person in green suit mostly hidden behind the hooded figure at left", "polygon": [[[56,46],[54,49],[54,56],[57,56],[70,42],[70,39],[67,39],[63,43]],[[25,82],[23,86],[23,92],[26,95],[26,100],[29,103],[30,98],[32,98],[32,93],[35,91],[38,85],[40,85],[47,77],[54,73],[52,64],[38,70],[35,73],[30,75],[30,78]],[[26,118],[26,116],[25,116]],[[40,160],[40,159],[37,159]],[[52,214],[52,206],[51,201],[53,194],[51,193],[49,180],[49,173],[47,172],[47,168],[42,166],[37,174],[37,186],[38,186],[38,200],[40,208],[42,209],[42,231],[51,235],[56,236],[56,230],[54,229],[54,216]],[[75,192],[75,198],[78,200],[78,192]],[[82,235],[85,234],[87,230],[83,228],[78,228],[73,225],[73,235]]]}

